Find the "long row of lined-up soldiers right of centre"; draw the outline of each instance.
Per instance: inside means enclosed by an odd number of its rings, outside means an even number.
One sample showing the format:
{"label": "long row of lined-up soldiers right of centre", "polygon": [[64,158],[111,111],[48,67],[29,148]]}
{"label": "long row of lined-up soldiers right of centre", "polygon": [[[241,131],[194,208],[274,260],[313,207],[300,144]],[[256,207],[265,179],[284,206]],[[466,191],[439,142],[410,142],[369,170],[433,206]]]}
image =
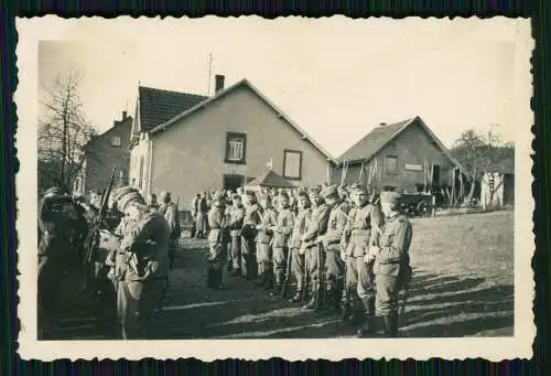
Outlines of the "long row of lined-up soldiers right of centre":
{"label": "long row of lined-up soldiers right of centre", "polygon": [[[314,186],[294,195],[253,191],[212,198],[207,284],[224,289],[225,271],[285,296],[306,310],[339,311],[363,337],[398,334],[399,292],[411,278],[412,227],[400,194]],[[376,312],[378,314],[376,314]],[[380,319],[380,320],[379,320]]]}

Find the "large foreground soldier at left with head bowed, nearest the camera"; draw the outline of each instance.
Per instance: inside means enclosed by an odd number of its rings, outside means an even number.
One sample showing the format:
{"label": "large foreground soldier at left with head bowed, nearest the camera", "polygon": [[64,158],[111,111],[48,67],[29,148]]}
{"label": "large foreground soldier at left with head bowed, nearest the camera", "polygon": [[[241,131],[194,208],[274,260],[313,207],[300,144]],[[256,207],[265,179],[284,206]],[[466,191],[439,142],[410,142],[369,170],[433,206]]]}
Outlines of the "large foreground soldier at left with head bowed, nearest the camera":
{"label": "large foreground soldier at left with head bowed, nearest the camera", "polygon": [[[120,241],[126,266],[118,276],[117,311],[123,340],[151,339],[153,311],[169,276],[170,226],[161,213],[148,208],[141,194],[129,187],[116,192],[117,207],[129,216]],[[121,256],[122,256],[121,255]]]}

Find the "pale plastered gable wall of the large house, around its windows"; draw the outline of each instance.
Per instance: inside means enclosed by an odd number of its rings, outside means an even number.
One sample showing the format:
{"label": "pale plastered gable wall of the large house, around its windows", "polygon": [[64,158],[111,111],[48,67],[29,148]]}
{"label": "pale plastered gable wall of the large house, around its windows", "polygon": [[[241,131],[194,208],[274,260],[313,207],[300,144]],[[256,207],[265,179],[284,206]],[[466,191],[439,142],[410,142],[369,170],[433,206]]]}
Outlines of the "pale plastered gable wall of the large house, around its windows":
{"label": "pale plastered gable wall of the large house, around its windows", "polygon": [[[226,132],[247,135],[246,164],[225,163]],[[206,108],[152,136],[151,192],[169,190],[187,205],[204,190],[223,186],[224,174],[257,178],[273,161],[283,174],[283,150],[302,151],[302,180],[320,184],[327,180],[327,161],[289,123],[247,87],[239,87]]]}

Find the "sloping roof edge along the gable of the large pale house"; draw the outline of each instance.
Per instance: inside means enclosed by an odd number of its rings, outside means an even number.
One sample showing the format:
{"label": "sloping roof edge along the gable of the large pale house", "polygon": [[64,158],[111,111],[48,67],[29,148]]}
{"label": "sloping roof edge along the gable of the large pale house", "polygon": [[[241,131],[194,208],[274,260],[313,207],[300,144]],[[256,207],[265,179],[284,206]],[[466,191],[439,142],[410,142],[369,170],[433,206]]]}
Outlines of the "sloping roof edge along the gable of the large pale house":
{"label": "sloping roof edge along the gable of the large pale house", "polygon": [[234,92],[236,88],[240,86],[247,86],[249,89],[251,89],[256,95],[258,95],[269,107],[271,107],[280,118],[285,120],[287,123],[289,123],[296,132],[299,132],[302,137],[303,140],[309,141],[316,148],[326,159],[327,161],[336,163],[336,160],[324,149],[322,148],[321,144],[318,144],[312,137],[306,135],[306,132],[300,128],[291,118],[289,118],[281,109],[279,109],[270,99],[268,99],[262,93],[260,93],[249,80],[246,78],[239,80],[238,83],[227,87],[226,89],[223,89],[215,94],[212,97],[206,98],[203,101],[197,103],[195,106],[190,107],[186,110],[180,111],[177,115],[173,116],[170,119],[166,119],[163,123],[158,125],[155,128],[153,128],[150,131],[150,135],[154,135],[156,132],[160,132],[162,130],[165,130],[173,123],[184,119],[185,117],[198,111],[199,109],[206,107],[208,104],[218,100],[219,98],[224,97],[225,95]]}

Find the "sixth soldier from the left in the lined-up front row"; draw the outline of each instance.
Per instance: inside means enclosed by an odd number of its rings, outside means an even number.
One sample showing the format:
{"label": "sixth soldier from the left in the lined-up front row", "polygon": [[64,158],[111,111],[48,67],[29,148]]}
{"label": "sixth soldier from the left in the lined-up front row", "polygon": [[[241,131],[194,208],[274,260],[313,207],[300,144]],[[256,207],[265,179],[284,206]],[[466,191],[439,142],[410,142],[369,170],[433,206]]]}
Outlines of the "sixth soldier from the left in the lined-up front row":
{"label": "sixth soldier from the left in the lined-up front row", "polygon": [[296,278],[296,293],[291,299],[292,303],[302,301],[304,294],[304,254],[305,248],[302,247],[301,237],[306,232],[307,222],[312,217],[312,210],[310,208],[310,198],[306,192],[300,192],[296,198],[299,214],[294,219],[293,233],[289,243],[292,257],[292,269]]}

